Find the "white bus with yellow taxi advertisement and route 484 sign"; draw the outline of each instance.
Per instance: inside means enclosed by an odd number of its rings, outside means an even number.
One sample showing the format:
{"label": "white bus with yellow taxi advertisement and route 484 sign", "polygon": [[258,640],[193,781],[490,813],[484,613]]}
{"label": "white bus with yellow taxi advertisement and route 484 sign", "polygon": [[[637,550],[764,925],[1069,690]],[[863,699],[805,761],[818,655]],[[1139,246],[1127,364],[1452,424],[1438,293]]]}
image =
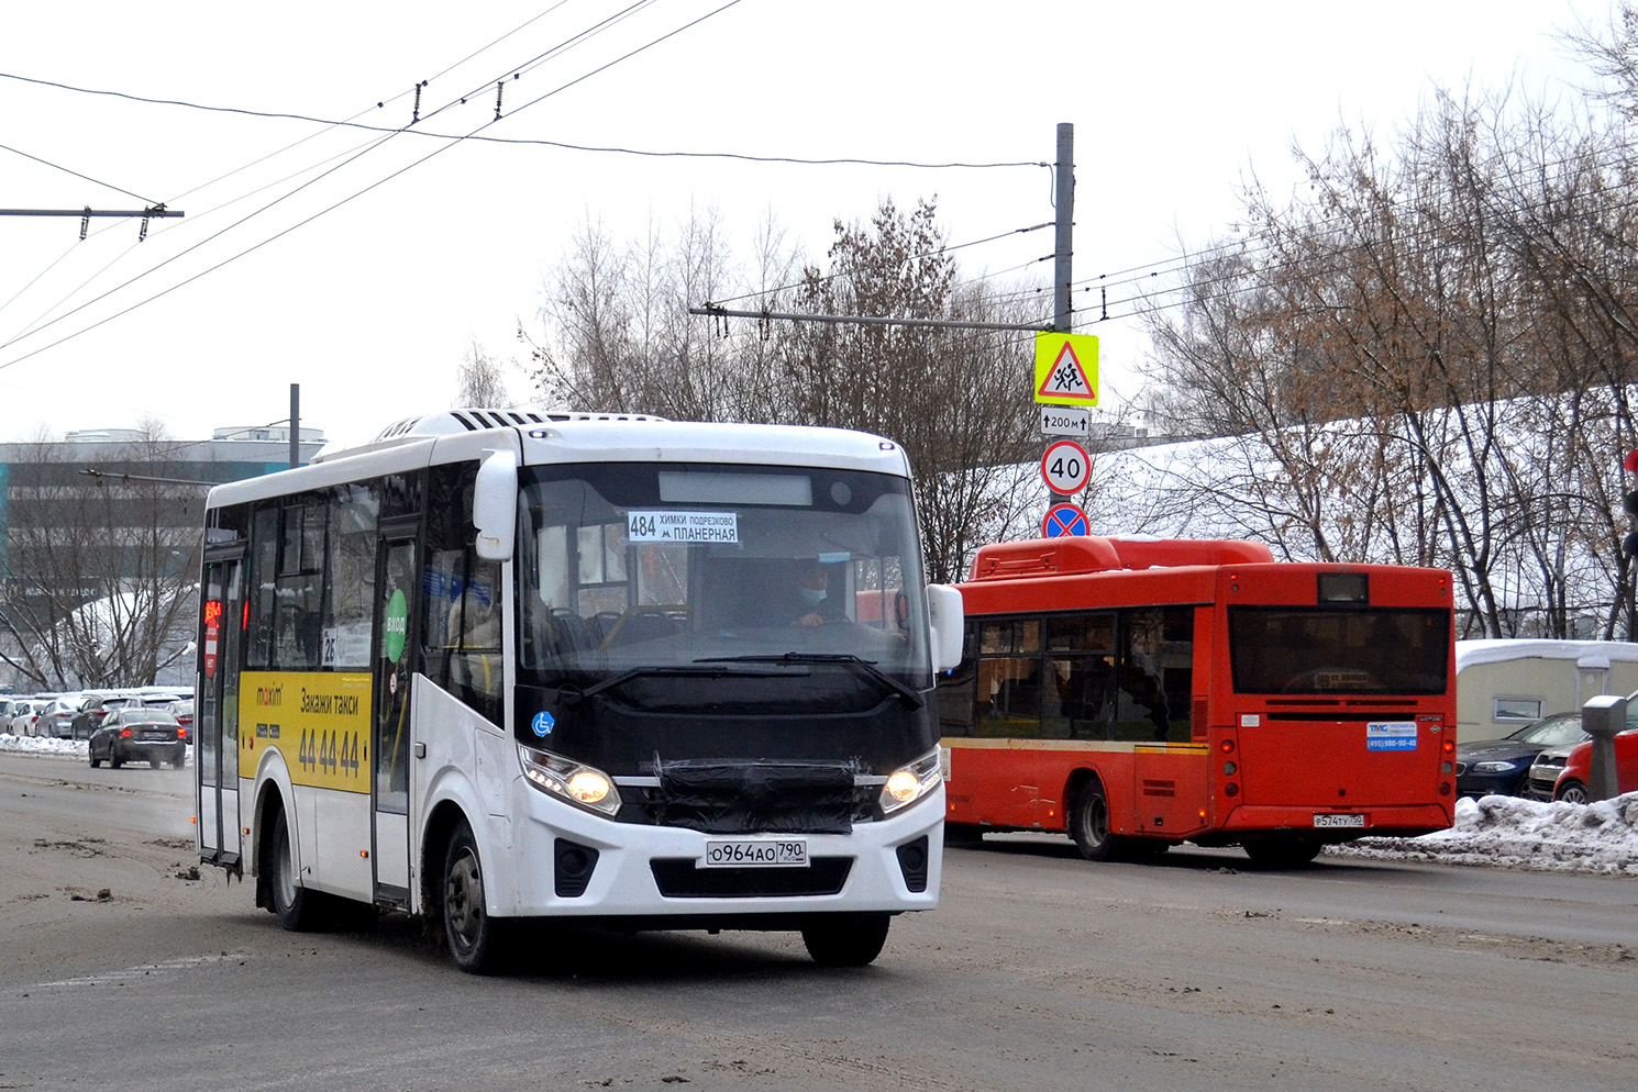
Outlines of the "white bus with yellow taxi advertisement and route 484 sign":
{"label": "white bus with yellow taxi advertisement and route 484 sign", "polygon": [[547,917],[860,966],[937,905],[962,606],[894,442],[462,409],[205,519],[200,860],[287,928],[423,915],[472,972]]}

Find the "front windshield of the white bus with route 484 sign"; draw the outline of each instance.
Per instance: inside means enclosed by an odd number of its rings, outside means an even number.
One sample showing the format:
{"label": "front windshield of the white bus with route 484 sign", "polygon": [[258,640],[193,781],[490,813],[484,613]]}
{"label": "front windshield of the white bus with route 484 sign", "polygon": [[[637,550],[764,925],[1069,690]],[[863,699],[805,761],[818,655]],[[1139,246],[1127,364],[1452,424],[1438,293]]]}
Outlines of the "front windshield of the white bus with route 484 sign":
{"label": "front windshield of the white bus with route 484 sign", "polygon": [[903,478],[575,463],[521,480],[521,681],[857,658],[891,684],[932,686]]}

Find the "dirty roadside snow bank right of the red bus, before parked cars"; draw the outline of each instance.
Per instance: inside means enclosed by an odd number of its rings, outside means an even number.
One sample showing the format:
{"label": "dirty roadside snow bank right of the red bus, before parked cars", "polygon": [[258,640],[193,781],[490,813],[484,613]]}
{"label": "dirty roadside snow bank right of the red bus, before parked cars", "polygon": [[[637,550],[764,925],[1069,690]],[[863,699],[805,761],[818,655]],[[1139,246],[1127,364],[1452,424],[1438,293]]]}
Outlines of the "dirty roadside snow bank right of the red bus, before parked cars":
{"label": "dirty roadside snow bank right of the red bus, before parked cars", "polygon": [[1420,838],[1361,838],[1340,856],[1638,876],[1638,792],[1597,804],[1517,796],[1456,801],[1456,825]]}

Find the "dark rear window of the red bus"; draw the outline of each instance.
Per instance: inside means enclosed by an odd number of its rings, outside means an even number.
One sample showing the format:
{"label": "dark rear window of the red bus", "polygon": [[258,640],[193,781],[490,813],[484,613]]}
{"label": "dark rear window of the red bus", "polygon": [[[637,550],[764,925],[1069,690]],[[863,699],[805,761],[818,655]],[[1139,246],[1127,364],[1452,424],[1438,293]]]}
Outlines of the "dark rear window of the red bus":
{"label": "dark rear window of the red bus", "polygon": [[1230,607],[1228,655],[1237,694],[1443,694],[1450,612]]}

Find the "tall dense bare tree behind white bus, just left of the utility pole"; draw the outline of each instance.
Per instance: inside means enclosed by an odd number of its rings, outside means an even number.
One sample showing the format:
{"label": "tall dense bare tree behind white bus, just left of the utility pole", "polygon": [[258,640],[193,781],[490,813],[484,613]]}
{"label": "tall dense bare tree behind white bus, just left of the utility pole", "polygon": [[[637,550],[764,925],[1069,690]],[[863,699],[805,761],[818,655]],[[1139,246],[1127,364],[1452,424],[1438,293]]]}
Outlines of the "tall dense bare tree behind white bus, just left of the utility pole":
{"label": "tall dense bare tree behind white bus, just left of the utility pole", "polygon": [[[868,226],[835,224],[829,268],[809,265],[796,305],[811,313],[1017,323],[958,291],[930,201],[885,201]],[[925,326],[801,324],[785,344],[788,419],[863,429],[911,457],[929,576],[960,580],[984,542],[1017,535],[1034,508],[1019,463],[1038,450],[1027,395],[1032,342]]]}

